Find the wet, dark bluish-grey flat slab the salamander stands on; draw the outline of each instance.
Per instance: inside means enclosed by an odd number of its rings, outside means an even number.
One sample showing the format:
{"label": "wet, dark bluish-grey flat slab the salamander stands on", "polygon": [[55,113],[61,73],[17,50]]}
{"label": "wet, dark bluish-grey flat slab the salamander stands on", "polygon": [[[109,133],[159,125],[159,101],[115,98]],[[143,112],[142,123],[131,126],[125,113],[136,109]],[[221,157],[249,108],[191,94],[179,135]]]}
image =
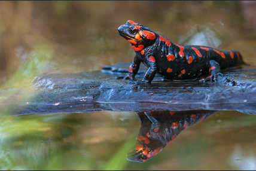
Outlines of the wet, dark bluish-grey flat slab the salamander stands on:
{"label": "wet, dark bluish-grey flat slab the salamander stands on", "polygon": [[[152,84],[115,79],[128,71],[128,63],[105,66],[102,72],[48,74],[36,77],[36,95],[17,114],[92,111],[184,111],[195,109],[256,111],[256,68],[244,66],[223,71],[220,83],[162,81]],[[142,78],[141,68],[136,78]],[[57,105],[56,105],[57,104]]]}

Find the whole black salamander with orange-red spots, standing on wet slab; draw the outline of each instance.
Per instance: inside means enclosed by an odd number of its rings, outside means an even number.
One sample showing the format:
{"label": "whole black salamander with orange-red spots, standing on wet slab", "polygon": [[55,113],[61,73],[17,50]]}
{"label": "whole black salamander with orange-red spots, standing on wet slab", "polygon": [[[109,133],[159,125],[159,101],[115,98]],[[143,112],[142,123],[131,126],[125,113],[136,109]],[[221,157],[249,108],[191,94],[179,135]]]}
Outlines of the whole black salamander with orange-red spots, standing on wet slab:
{"label": "whole black salamander with orange-red spots, standing on wet slab", "polygon": [[135,79],[141,63],[148,67],[143,82],[151,83],[156,73],[167,80],[217,81],[221,69],[239,66],[244,62],[238,51],[221,51],[199,45],[178,45],[146,26],[127,20],[118,28],[123,38],[130,42],[136,56],[130,65],[130,75]]}

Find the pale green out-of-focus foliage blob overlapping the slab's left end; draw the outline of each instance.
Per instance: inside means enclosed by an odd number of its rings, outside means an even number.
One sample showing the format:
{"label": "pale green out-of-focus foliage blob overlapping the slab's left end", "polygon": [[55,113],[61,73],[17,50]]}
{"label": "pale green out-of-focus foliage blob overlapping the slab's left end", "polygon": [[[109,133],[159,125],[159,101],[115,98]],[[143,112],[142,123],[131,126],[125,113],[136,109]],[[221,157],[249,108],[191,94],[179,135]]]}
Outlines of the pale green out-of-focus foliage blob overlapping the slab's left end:
{"label": "pale green out-of-focus foliage blob overlapping the slab's left end", "polygon": [[11,115],[20,108],[17,104],[29,103],[36,94],[32,88],[32,80],[51,68],[52,56],[53,49],[48,45],[35,46],[24,65],[20,66],[10,79],[1,85],[1,89],[7,90],[1,93],[1,115]]}

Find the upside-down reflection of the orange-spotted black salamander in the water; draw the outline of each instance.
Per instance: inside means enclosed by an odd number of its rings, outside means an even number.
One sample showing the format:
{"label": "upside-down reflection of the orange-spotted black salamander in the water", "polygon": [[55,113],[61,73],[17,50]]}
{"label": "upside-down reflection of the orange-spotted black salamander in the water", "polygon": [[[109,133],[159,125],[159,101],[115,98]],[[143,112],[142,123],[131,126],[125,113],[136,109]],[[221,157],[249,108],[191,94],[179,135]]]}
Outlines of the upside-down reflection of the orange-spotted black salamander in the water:
{"label": "upside-down reflection of the orange-spotted black salamander in the water", "polygon": [[182,130],[199,123],[216,111],[165,111],[139,112],[141,130],[135,149],[127,154],[127,160],[145,162],[158,154],[173,141]]}

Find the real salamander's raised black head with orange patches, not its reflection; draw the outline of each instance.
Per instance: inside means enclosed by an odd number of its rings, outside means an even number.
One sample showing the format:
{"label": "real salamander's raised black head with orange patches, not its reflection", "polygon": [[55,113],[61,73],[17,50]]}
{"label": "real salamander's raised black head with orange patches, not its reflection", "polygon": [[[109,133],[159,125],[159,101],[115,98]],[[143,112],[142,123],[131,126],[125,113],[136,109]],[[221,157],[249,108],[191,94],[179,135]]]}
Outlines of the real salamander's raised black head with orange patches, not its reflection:
{"label": "real salamander's raised black head with orange patches, not its reflection", "polygon": [[157,39],[157,33],[146,26],[139,25],[132,20],[127,20],[124,25],[118,28],[119,34],[127,39],[135,51],[141,51]]}

